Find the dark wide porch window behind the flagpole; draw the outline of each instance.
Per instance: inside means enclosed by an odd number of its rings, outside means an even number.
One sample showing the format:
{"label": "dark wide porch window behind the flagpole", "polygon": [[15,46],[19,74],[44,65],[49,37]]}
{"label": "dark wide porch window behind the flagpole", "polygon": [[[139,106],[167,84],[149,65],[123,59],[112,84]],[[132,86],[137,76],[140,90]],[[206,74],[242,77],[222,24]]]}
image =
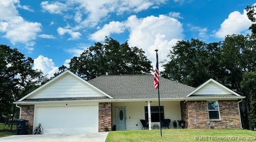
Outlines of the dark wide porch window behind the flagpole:
{"label": "dark wide porch window behind the flagpole", "polygon": [[[150,111],[151,111],[151,122],[159,122],[159,106],[150,106]],[[163,122],[163,119],[164,119],[163,106],[160,106],[160,115],[161,115],[161,122]],[[145,120],[148,122],[147,106],[145,106]]]}

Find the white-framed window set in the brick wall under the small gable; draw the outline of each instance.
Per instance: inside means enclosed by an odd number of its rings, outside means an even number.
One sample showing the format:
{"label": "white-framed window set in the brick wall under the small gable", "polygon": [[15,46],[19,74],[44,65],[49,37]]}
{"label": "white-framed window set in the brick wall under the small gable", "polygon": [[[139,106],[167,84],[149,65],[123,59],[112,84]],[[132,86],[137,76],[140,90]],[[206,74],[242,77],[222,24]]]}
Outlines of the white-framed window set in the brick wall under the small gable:
{"label": "white-framed window set in the brick wall under the small gable", "polygon": [[209,120],[219,120],[220,119],[220,110],[218,101],[208,101],[208,114]]}

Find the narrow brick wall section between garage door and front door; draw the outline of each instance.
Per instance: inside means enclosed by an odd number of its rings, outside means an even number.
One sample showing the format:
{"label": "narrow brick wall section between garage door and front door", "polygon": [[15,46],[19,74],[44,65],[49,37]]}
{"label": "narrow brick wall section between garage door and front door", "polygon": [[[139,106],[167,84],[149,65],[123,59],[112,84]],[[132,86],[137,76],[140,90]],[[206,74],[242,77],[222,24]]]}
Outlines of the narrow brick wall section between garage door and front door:
{"label": "narrow brick wall section between garage door and front door", "polygon": [[108,129],[111,130],[111,127],[112,127],[111,110],[112,110],[111,102],[99,102],[99,132],[104,132],[105,127],[108,127]]}

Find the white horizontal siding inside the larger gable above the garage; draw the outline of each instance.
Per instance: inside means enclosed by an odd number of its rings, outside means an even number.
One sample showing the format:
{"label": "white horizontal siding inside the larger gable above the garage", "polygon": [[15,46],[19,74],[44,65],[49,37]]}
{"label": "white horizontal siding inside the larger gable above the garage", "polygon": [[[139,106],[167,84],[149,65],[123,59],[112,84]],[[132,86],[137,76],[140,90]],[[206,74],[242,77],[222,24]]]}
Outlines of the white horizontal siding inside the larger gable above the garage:
{"label": "white horizontal siding inside the larger gable above the garage", "polygon": [[104,96],[88,84],[71,74],[65,74],[49,86],[42,88],[28,99],[67,98],[67,97],[97,97]]}

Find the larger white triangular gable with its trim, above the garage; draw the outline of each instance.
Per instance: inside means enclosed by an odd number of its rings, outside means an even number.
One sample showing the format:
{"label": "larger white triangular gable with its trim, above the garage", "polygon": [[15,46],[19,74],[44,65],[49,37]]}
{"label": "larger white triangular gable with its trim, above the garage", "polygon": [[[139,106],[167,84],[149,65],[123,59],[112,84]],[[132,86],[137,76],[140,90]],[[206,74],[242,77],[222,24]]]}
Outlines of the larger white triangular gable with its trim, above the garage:
{"label": "larger white triangular gable with its trim, above the garage", "polygon": [[40,86],[38,89],[24,96],[19,101],[24,99],[106,96],[112,99],[108,94],[102,92],[92,84],[67,70]]}

